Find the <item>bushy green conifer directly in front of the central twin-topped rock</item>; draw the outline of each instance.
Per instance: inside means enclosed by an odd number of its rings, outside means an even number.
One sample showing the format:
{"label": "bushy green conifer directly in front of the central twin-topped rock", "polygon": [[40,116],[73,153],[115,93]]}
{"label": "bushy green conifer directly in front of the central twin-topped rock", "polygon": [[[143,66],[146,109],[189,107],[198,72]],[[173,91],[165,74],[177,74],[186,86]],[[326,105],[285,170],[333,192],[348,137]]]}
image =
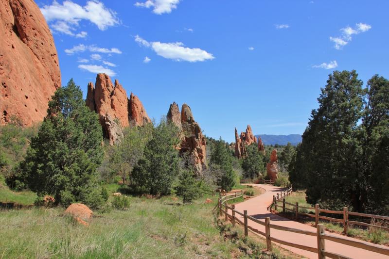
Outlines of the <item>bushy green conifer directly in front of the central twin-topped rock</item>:
{"label": "bushy green conifer directly in front of the central twin-topped rock", "polygon": [[161,120],[152,130],[145,145],[143,158],[132,170],[131,185],[153,195],[170,194],[178,175],[178,128]]}

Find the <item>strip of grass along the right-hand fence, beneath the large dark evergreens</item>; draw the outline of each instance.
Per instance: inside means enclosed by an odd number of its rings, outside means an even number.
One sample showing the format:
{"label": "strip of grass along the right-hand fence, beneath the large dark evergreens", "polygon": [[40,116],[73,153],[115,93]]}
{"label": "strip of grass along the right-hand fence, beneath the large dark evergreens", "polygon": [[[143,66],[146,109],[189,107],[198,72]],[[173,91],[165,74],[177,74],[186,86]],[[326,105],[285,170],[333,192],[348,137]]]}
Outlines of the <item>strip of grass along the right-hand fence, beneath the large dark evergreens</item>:
{"label": "strip of grass along the right-hand fence, beneath the large dark evergreens", "polygon": [[[295,204],[296,202],[299,203],[299,206],[303,207],[315,207],[311,204],[308,204],[305,200],[305,193],[304,192],[294,192],[289,196],[285,197],[285,201],[289,203]],[[287,208],[289,209],[294,209],[294,207],[291,207],[289,205],[286,205]],[[295,219],[294,217],[294,212],[287,212],[285,214],[282,213],[282,206],[277,207],[277,212],[282,214],[285,217]],[[315,213],[315,210],[305,210],[305,209],[300,209],[299,211],[309,213],[313,212]],[[315,226],[315,219],[310,218],[310,217],[303,217],[299,216],[299,221],[302,223],[306,223],[312,226]],[[343,224],[341,223],[336,223],[336,222],[329,222],[327,220],[319,220],[320,224],[323,224],[326,228],[326,230],[335,232],[338,234],[342,234],[343,232]],[[347,235],[351,237],[358,238],[360,240],[372,242],[372,243],[379,243],[379,244],[386,244],[389,245],[389,233],[387,231],[377,229],[377,228],[371,228],[371,229],[362,229],[358,228],[358,226],[354,227],[349,227],[347,231]]]}

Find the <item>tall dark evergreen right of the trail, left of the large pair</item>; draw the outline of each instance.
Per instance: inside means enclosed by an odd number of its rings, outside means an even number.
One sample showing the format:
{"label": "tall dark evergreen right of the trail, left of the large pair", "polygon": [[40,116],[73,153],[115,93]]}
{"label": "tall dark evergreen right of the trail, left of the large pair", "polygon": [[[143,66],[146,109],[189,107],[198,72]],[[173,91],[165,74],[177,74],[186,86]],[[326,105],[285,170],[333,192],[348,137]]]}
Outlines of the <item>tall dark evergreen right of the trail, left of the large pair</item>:
{"label": "tall dark evergreen right of the trail, left of the large pair", "polygon": [[291,172],[294,178],[298,174],[304,177],[299,182],[306,188],[311,204],[321,202],[340,209],[351,202],[360,210],[365,186],[357,182],[361,148],[355,129],[363,97],[362,81],[355,71],[334,71],[321,90],[319,108],[312,111],[298,149],[297,158],[303,158],[300,162],[304,165],[294,170],[302,171]]}

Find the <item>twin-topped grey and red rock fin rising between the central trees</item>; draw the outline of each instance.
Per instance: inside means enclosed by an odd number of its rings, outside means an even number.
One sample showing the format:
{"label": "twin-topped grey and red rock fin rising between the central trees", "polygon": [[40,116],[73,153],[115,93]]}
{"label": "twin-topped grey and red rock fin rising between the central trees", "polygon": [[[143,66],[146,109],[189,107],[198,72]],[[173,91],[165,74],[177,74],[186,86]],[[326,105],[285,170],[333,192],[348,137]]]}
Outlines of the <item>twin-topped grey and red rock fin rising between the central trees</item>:
{"label": "twin-topped grey and red rock fin rising between the central trees", "polygon": [[174,102],[170,105],[166,118],[178,127],[185,129],[186,134],[182,136],[182,141],[178,149],[180,153],[189,152],[190,159],[196,167],[197,174],[201,174],[207,168],[207,144],[200,126],[195,122],[191,108],[184,103],[181,107],[180,115],[178,105]]}

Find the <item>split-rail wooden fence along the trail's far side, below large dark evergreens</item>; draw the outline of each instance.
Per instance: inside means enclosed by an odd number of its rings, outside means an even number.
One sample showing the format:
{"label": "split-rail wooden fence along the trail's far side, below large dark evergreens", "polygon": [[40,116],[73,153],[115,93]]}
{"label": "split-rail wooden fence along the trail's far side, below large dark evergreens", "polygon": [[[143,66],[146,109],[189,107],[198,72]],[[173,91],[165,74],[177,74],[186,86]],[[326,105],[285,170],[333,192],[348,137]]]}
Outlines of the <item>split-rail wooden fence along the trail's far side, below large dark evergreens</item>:
{"label": "split-rail wooden fence along the trail's far side, below large dark evergreens", "polygon": [[[277,208],[279,206],[278,204],[282,203],[283,213],[285,213],[286,210],[290,211],[292,213],[295,213],[296,219],[298,219],[299,215],[304,215],[304,216],[315,218],[315,226],[318,226],[319,219],[340,222],[343,224],[343,231],[345,234],[347,234],[347,230],[348,230],[348,227],[350,224],[389,230],[389,227],[377,226],[377,225],[372,225],[372,224],[368,224],[365,222],[349,220],[350,216],[389,220],[388,216],[380,216],[380,215],[352,212],[352,211],[349,211],[349,209],[347,207],[344,207],[343,210],[320,209],[318,204],[316,204],[315,207],[304,207],[304,206],[300,206],[298,202],[296,202],[296,204],[293,204],[293,203],[289,203],[289,202],[285,201],[284,197],[289,195],[291,192],[292,192],[292,190],[290,188],[286,192],[282,192],[281,195],[279,195],[279,194],[273,195],[273,204],[268,207],[268,210],[271,210],[272,207],[274,207],[274,209],[277,210]],[[288,208],[287,206],[292,207],[292,209]],[[303,212],[303,211],[301,211],[301,209],[305,210],[307,212],[309,212],[309,210],[311,210],[312,213]],[[327,216],[320,215],[320,213],[339,214],[339,215],[342,215],[342,217],[340,218],[340,216],[339,216],[339,218],[334,218],[334,217],[329,217],[328,215]]]}

